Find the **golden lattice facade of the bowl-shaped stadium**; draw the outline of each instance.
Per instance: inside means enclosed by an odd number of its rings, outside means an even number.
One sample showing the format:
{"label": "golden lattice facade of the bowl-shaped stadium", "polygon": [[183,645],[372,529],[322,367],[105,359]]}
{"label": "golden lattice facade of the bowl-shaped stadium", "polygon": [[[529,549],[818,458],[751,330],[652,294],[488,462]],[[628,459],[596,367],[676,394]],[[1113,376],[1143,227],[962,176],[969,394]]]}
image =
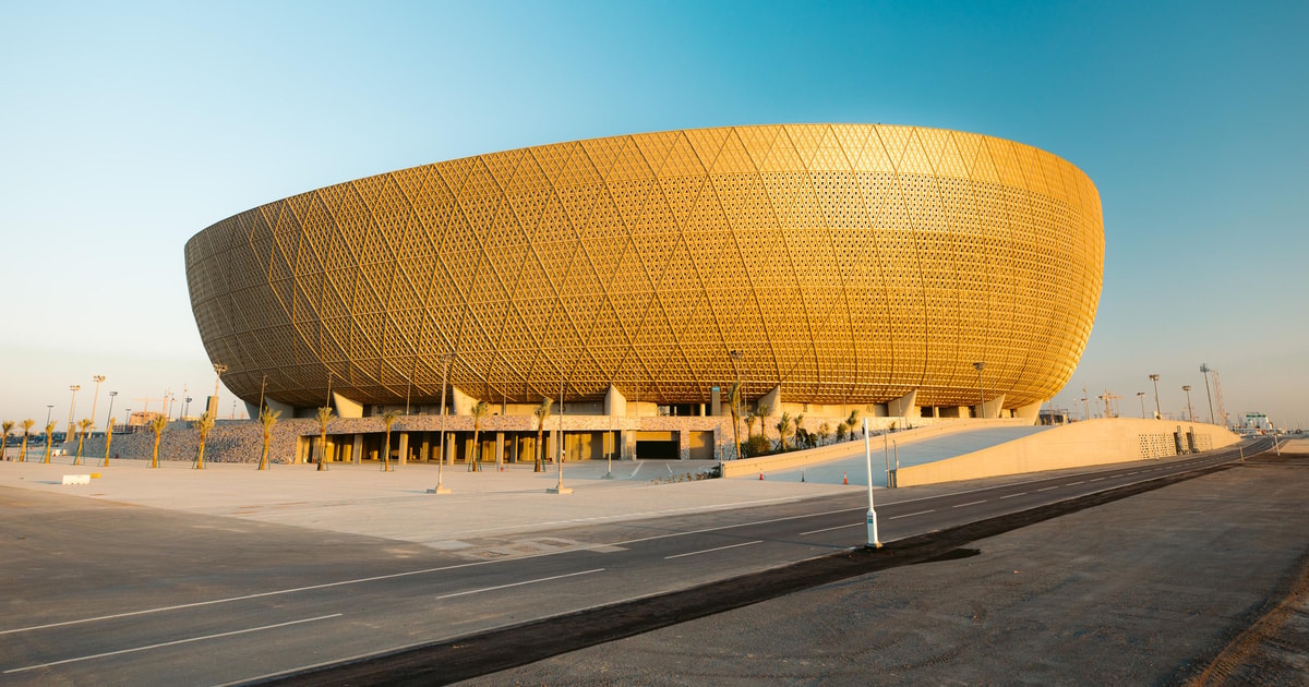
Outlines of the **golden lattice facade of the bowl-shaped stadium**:
{"label": "golden lattice facade of the bowl-shaped stadium", "polygon": [[437,162],[223,220],[186,245],[228,387],[318,406],[746,395],[1005,407],[1090,335],[1100,195],[1071,164],[932,128],[669,131]]}

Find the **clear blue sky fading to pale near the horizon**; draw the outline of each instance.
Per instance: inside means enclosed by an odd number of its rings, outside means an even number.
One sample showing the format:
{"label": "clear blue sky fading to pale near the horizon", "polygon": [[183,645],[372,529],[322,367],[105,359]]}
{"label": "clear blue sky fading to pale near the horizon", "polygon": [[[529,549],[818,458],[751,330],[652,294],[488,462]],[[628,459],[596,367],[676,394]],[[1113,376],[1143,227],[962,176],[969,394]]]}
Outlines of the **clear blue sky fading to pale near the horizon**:
{"label": "clear blue sky fading to pale near the horizon", "polygon": [[[1309,429],[1309,3],[0,0],[0,419],[213,389],[182,256],[292,194],[524,145],[869,122],[1081,167],[1105,291],[1068,387]],[[230,394],[223,391],[223,416]],[[157,400],[154,410],[158,410]],[[192,404],[194,410],[194,404]],[[242,411],[238,411],[238,414]]]}

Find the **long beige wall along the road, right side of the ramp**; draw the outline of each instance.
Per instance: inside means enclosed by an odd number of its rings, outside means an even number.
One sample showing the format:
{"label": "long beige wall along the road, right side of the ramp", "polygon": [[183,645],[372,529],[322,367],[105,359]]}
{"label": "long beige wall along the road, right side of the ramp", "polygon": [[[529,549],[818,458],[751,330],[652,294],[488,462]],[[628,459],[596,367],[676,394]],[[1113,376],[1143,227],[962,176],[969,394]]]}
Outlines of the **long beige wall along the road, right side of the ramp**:
{"label": "long beige wall along the road, right side of the ramp", "polygon": [[[1181,433],[1182,450],[1177,450],[1175,433]],[[1194,436],[1195,451],[1230,446],[1241,440],[1223,427],[1173,420],[1136,420],[1113,417],[1073,423],[1038,432],[945,461],[902,467],[897,474],[899,487],[957,482],[1063,470],[1105,463],[1169,458],[1190,453],[1187,434]]]}

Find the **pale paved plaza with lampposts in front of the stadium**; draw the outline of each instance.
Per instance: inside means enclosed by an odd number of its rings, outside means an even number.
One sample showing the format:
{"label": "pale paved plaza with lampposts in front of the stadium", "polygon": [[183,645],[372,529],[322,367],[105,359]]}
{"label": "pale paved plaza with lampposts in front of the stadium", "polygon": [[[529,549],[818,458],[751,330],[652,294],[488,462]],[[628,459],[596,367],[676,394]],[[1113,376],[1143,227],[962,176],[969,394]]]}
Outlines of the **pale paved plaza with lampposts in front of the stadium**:
{"label": "pale paved plaza with lampposts in front of the stadium", "polygon": [[[614,462],[614,479],[602,479],[601,461],[564,463],[568,495],[546,493],[558,483],[554,465],[507,465],[497,472],[446,466],[444,484],[452,493],[433,495],[437,466],[406,465],[382,472],[378,465],[274,466],[257,471],[249,463],[115,461],[110,467],[55,463],[0,463],[0,488],[46,491],[166,510],[246,518],[348,534],[382,537],[436,548],[461,548],[462,539],[615,522],[678,513],[723,510],[796,501],[857,487],[749,480],[689,480],[712,461]],[[99,472],[89,485],[63,485],[63,475]],[[674,482],[681,479],[682,482]],[[217,525],[217,522],[216,522]]]}

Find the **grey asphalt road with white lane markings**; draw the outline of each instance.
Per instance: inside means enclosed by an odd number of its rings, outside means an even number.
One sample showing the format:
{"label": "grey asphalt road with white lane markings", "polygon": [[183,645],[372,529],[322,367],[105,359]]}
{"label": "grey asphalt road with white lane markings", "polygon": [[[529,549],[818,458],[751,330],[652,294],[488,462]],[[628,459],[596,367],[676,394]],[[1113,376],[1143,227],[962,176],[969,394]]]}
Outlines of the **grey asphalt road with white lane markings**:
{"label": "grey asphalt road with white lane markings", "polygon": [[[880,534],[890,542],[1236,458],[1232,449],[878,491]],[[865,509],[867,496],[851,495],[442,552],[0,489],[0,682],[223,684],[292,674],[860,547]]]}

